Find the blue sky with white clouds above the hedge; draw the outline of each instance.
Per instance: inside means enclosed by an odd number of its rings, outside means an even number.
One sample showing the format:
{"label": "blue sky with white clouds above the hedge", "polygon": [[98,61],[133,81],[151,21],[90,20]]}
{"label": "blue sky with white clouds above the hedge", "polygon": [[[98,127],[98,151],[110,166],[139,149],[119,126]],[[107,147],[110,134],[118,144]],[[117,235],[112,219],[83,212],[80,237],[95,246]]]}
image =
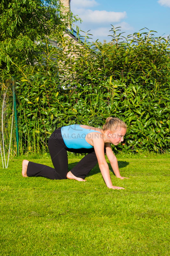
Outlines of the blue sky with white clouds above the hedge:
{"label": "blue sky with white clouds above the hedge", "polygon": [[[142,28],[157,31],[156,36],[170,35],[170,0],[71,0],[71,12],[81,18],[74,24],[92,34],[89,41],[111,41],[113,25],[121,27],[124,36]],[[81,35],[85,35],[80,32]]]}

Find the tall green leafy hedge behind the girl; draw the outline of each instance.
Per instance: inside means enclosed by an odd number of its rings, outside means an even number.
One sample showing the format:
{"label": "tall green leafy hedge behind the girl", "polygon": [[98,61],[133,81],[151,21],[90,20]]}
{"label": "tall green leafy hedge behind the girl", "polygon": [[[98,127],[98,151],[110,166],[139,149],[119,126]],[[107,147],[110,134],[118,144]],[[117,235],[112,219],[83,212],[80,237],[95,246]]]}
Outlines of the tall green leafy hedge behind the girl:
{"label": "tall green leafy hedge behind the girl", "polygon": [[18,67],[20,153],[46,152],[47,140],[61,125],[102,126],[108,116],[128,126],[115,152],[169,150],[169,38],[152,32],[116,36],[113,44],[42,44],[34,66]]}

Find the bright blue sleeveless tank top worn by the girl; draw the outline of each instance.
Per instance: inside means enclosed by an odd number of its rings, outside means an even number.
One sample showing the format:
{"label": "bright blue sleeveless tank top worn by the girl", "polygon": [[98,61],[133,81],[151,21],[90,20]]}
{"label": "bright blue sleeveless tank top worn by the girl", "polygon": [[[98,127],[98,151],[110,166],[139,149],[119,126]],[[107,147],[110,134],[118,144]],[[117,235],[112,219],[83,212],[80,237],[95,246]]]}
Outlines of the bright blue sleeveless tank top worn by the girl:
{"label": "bright blue sleeveless tank top worn by the girl", "polygon": [[67,148],[93,148],[85,139],[86,135],[90,132],[98,131],[82,128],[79,124],[61,127],[61,135]]}

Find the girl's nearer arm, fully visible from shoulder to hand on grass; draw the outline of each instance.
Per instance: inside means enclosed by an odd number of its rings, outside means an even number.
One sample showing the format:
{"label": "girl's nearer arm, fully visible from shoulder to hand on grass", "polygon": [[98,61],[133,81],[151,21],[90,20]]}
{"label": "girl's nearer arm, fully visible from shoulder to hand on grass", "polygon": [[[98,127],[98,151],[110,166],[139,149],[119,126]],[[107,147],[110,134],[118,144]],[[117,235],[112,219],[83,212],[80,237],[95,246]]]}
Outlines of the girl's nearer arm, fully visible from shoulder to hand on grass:
{"label": "girl's nearer arm, fully visible from shoulder to hand on grass", "polygon": [[104,141],[103,141],[103,139],[101,139],[101,138],[94,139],[93,144],[94,144],[94,149],[95,149],[95,153],[97,156],[99,168],[102,173],[103,179],[106,183],[106,186],[108,188],[113,188],[113,189],[124,189],[124,188],[116,187],[116,186],[112,185],[111,178],[110,178],[109,166],[108,166],[105,156],[104,156]]}

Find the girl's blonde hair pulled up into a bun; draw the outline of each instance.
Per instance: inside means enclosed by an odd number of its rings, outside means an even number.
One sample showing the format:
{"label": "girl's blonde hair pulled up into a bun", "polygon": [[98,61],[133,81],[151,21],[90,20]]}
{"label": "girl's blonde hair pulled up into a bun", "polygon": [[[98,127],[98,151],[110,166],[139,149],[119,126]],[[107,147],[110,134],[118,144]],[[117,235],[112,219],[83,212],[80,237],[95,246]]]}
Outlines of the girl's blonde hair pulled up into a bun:
{"label": "girl's blonde hair pulled up into a bun", "polygon": [[115,131],[117,127],[125,128],[127,129],[127,125],[120,120],[117,117],[108,117],[106,119],[106,123],[103,125],[103,131],[104,130],[110,130],[110,131]]}

